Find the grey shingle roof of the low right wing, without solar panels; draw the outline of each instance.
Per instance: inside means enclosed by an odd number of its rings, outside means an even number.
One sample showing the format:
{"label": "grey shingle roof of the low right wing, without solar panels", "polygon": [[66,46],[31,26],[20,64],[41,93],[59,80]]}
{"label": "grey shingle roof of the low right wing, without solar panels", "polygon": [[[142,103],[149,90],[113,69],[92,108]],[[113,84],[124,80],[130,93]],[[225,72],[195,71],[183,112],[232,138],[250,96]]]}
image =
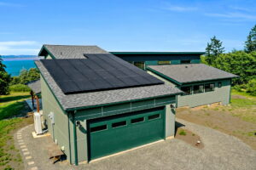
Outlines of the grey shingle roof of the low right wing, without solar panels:
{"label": "grey shingle roof of the low right wing, without solar panels", "polygon": [[148,68],[149,70],[152,69],[153,71],[156,71],[156,73],[159,72],[180,83],[238,77],[229,72],[204,64],[150,65]]}

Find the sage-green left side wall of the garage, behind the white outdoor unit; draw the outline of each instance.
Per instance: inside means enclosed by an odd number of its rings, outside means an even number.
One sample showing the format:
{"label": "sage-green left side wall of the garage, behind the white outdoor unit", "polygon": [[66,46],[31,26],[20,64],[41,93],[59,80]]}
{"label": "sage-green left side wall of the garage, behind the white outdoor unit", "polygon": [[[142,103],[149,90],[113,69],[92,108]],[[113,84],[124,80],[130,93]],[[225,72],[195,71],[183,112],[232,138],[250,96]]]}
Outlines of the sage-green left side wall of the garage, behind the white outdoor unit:
{"label": "sage-green left side wall of the garage, behind the white outdoor unit", "polygon": [[[44,120],[47,121],[49,133],[51,138],[57,142],[60,149],[64,146],[64,153],[69,160],[69,138],[68,138],[68,118],[67,114],[61,110],[60,105],[56,101],[54,95],[49,90],[48,85],[41,76],[41,88],[42,88],[42,105]],[[55,124],[52,125],[49,120],[49,113],[54,113]]]}

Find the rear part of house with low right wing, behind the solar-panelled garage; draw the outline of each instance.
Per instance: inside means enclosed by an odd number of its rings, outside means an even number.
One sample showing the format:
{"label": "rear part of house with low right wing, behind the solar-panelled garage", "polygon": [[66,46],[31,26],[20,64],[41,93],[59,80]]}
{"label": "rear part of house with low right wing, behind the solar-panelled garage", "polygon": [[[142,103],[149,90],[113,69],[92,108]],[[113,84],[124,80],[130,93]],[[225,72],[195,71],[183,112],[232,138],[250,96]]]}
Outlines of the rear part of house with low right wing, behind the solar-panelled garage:
{"label": "rear part of house with low right wing, behind the solar-panelled garage", "polygon": [[177,107],[230,104],[234,74],[200,64],[204,52],[110,52],[148,71],[154,77],[184,94],[177,96]]}

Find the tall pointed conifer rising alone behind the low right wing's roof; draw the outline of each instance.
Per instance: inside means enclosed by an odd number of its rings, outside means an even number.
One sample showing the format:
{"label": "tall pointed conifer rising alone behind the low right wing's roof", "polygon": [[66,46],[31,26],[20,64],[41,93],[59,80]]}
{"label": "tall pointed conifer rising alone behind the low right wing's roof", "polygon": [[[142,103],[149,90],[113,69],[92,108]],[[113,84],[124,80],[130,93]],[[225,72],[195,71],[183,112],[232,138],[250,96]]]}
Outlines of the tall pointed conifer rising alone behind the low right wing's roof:
{"label": "tall pointed conifer rising alone behind the low right wing's roof", "polygon": [[211,38],[211,42],[207,42],[206,48],[206,62],[208,65],[212,65],[214,60],[218,55],[224,53],[224,47],[222,47],[222,42],[218,40],[215,36]]}

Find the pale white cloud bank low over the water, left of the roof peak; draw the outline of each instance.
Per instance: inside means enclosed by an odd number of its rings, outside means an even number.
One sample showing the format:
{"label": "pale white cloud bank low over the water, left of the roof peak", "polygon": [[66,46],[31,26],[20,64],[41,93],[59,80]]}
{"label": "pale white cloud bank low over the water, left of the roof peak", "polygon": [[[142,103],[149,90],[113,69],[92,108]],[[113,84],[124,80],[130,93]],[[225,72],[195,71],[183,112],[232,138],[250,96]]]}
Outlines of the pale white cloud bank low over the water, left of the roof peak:
{"label": "pale white cloud bank low over the water, left of the roof peak", "polygon": [[40,46],[35,41],[0,42],[0,54],[38,54]]}

